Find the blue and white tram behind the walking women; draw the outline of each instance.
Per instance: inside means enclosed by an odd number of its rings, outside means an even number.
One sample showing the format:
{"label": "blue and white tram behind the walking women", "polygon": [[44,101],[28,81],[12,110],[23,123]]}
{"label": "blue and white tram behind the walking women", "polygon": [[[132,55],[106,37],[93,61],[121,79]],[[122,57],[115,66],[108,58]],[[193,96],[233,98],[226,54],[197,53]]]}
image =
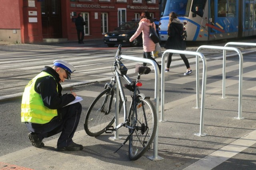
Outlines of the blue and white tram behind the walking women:
{"label": "blue and white tram behind the walking women", "polygon": [[187,41],[211,41],[256,35],[256,0],[163,0],[161,41],[168,39],[170,12],[176,12]]}

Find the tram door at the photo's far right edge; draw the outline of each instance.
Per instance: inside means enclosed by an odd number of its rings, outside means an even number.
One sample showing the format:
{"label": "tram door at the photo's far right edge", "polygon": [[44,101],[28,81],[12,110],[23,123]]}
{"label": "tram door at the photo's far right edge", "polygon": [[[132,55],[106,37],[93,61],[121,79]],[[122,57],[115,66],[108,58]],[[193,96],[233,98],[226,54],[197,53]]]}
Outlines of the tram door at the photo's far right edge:
{"label": "tram door at the photo's far right edge", "polygon": [[246,0],[244,8],[244,36],[252,35],[254,25],[254,6],[253,1]]}

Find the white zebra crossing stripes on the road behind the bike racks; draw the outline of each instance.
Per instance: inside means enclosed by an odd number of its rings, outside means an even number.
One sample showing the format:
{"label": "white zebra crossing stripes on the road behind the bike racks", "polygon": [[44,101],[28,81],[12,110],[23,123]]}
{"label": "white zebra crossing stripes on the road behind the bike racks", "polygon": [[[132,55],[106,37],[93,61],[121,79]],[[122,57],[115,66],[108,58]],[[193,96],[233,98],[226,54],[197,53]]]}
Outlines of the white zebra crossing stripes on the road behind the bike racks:
{"label": "white zebra crossing stripes on the road behind the bike racks", "polygon": [[[229,65],[229,66],[226,66],[226,76],[228,75],[228,72],[239,69],[239,64],[232,64],[232,62],[234,62],[234,61],[226,61],[226,64]],[[212,64],[222,66],[223,61],[222,60],[216,60],[216,61],[212,61],[212,62],[209,62],[209,63],[210,63],[210,64],[208,64],[209,67]],[[132,65],[132,64],[134,64],[134,63],[130,63],[129,65]],[[255,63],[245,62],[245,63],[243,63],[243,68],[245,69],[247,67],[252,67],[254,65],[255,65]],[[202,68],[202,64],[200,64],[200,66]],[[195,68],[195,65],[192,65],[192,68]],[[183,73],[181,73],[182,70],[184,70],[184,69],[181,68],[181,67],[178,67],[178,68],[171,68],[170,72],[165,72],[164,76],[174,76],[173,80],[168,80],[165,83],[182,85],[182,84],[187,84],[187,83],[191,83],[191,82],[196,81],[196,70],[194,70],[194,72],[192,74],[190,74],[189,76],[183,76],[182,75]],[[222,67],[218,68],[218,69],[210,70],[210,71],[207,72],[207,77],[208,78],[210,78],[211,76],[221,75],[220,78],[216,79],[217,81],[214,81],[214,82],[212,82],[212,81],[207,82],[206,81],[206,87],[214,88],[214,89],[210,89],[209,92],[215,93],[215,92],[218,92],[222,89],[222,81],[223,81],[222,80],[222,72],[223,72]],[[248,80],[248,79],[255,78],[254,72],[255,71],[244,72],[244,74],[243,74],[244,82],[246,82],[246,80]],[[237,73],[239,73],[239,71],[237,71]],[[104,75],[113,76],[113,74],[112,75],[111,74],[112,73],[105,73]],[[179,76],[175,76],[176,74],[178,74]],[[200,72],[199,74],[200,74],[200,79],[202,79],[202,72]],[[136,77],[137,76],[131,76],[130,78],[132,80],[135,80]],[[154,80],[154,79],[155,79],[154,72],[151,72],[150,74],[142,75],[142,77],[141,77],[142,83],[146,82],[146,81]],[[227,76],[225,87],[227,88],[229,86],[232,86],[232,85],[235,85],[235,84],[238,84],[238,83],[239,83],[239,74],[237,74],[235,76]],[[200,86],[201,86],[201,84],[200,84]],[[103,88],[102,88],[102,90],[103,90]],[[246,90],[256,91],[256,86],[250,87]],[[76,92],[76,94],[78,94],[78,96],[86,96],[86,97],[93,97],[93,98],[96,98],[96,96],[98,96],[99,93],[100,92],[87,91],[87,90]],[[126,96],[127,96],[128,101],[132,100],[130,95],[126,95]]]}

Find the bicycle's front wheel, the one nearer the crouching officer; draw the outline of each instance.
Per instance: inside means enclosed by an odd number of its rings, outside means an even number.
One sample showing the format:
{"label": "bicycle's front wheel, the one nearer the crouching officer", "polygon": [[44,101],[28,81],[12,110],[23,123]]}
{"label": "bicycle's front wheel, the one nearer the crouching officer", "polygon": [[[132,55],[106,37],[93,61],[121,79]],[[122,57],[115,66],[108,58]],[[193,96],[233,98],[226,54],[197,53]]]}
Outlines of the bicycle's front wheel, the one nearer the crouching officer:
{"label": "bicycle's front wheel, the one nearer the crouching officer", "polygon": [[[105,95],[108,95],[108,99],[104,102]],[[111,88],[105,89],[101,92],[92,102],[89,107],[85,121],[84,121],[84,130],[89,136],[95,137],[99,136],[105,132],[105,128],[114,123],[115,119],[115,100],[113,98],[111,110],[109,114],[105,114],[108,110],[108,104],[111,97]],[[105,96],[105,97],[104,97]],[[120,95],[119,95],[120,97]],[[103,107],[102,107],[103,106]],[[103,111],[100,111],[102,108]],[[119,113],[122,108],[122,100],[119,98]]]}

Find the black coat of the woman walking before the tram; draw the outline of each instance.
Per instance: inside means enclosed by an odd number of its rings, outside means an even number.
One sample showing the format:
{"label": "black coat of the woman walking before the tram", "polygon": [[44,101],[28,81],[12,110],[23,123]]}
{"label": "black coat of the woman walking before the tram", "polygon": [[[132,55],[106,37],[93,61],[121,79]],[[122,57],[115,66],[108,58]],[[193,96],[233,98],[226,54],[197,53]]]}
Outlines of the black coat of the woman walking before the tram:
{"label": "black coat of the woman walking before the tram", "polygon": [[183,30],[183,24],[177,22],[171,22],[168,30],[168,39],[164,46],[165,49],[174,49],[174,50],[185,50],[186,42],[182,40],[180,31]]}

